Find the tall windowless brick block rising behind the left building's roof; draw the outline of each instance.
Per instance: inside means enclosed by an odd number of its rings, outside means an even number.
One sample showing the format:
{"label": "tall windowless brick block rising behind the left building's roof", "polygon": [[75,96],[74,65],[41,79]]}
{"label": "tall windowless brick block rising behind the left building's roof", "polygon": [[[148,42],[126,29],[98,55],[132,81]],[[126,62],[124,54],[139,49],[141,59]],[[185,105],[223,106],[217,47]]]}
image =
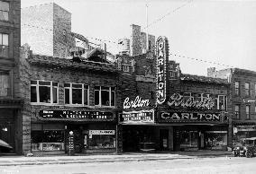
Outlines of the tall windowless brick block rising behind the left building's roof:
{"label": "tall windowless brick block rising behind the left building's roof", "polygon": [[22,45],[25,43],[35,54],[68,57],[69,49],[75,46],[71,13],[55,3],[23,8]]}

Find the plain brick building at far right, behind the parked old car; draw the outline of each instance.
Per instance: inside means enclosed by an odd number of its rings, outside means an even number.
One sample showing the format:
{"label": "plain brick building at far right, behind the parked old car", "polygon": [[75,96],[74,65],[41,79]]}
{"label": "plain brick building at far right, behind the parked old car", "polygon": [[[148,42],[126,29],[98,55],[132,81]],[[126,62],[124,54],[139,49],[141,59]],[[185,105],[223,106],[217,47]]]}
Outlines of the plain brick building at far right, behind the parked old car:
{"label": "plain brick building at far right, behind the parked old car", "polygon": [[228,68],[208,68],[208,76],[228,79],[232,83],[233,142],[256,136],[256,72]]}

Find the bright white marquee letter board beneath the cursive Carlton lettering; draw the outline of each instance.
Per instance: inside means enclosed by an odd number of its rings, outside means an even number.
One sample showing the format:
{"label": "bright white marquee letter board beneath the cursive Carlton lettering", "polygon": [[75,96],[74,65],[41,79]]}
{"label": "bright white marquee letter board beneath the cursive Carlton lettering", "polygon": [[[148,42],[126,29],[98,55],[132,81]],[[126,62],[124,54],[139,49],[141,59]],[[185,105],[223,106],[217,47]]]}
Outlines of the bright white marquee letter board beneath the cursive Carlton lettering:
{"label": "bright white marquee letter board beneath the cursive Carlton lettering", "polygon": [[152,123],[154,122],[154,111],[151,110],[141,110],[141,111],[131,111],[131,112],[123,112],[119,114],[120,122],[145,122]]}

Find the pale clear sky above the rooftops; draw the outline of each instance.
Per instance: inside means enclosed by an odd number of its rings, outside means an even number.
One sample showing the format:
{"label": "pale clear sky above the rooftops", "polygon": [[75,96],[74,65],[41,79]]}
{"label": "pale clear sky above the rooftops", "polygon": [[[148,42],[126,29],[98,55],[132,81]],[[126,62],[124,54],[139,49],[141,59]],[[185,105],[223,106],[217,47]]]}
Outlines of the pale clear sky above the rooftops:
{"label": "pale clear sky above the rooftops", "polygon": [[[89,40],[130,38],[131,24],[169,39],[169,59],[182,73],[238,67],[256,71],[256,0],[21,0],[22,8],[56,3],[72,13],[72,31]],[[148,24],[146,15],[148,4]],[[174,56],[176,55],[176,56]]]}

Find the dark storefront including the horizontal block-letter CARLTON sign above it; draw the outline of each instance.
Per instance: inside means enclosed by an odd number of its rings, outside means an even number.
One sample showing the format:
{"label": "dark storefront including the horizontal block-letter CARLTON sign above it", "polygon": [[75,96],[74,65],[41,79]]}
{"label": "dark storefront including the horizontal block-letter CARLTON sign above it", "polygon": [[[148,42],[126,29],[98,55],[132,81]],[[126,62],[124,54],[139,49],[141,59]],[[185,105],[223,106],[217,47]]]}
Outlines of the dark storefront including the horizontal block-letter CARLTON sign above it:
{"label": "dark storefront including the horizontal block-letter CARLTON sign above it", "polygon": [[226,150],[228,125],[222,112],[161,108],[157,122],[173,128],[174,151]]}

